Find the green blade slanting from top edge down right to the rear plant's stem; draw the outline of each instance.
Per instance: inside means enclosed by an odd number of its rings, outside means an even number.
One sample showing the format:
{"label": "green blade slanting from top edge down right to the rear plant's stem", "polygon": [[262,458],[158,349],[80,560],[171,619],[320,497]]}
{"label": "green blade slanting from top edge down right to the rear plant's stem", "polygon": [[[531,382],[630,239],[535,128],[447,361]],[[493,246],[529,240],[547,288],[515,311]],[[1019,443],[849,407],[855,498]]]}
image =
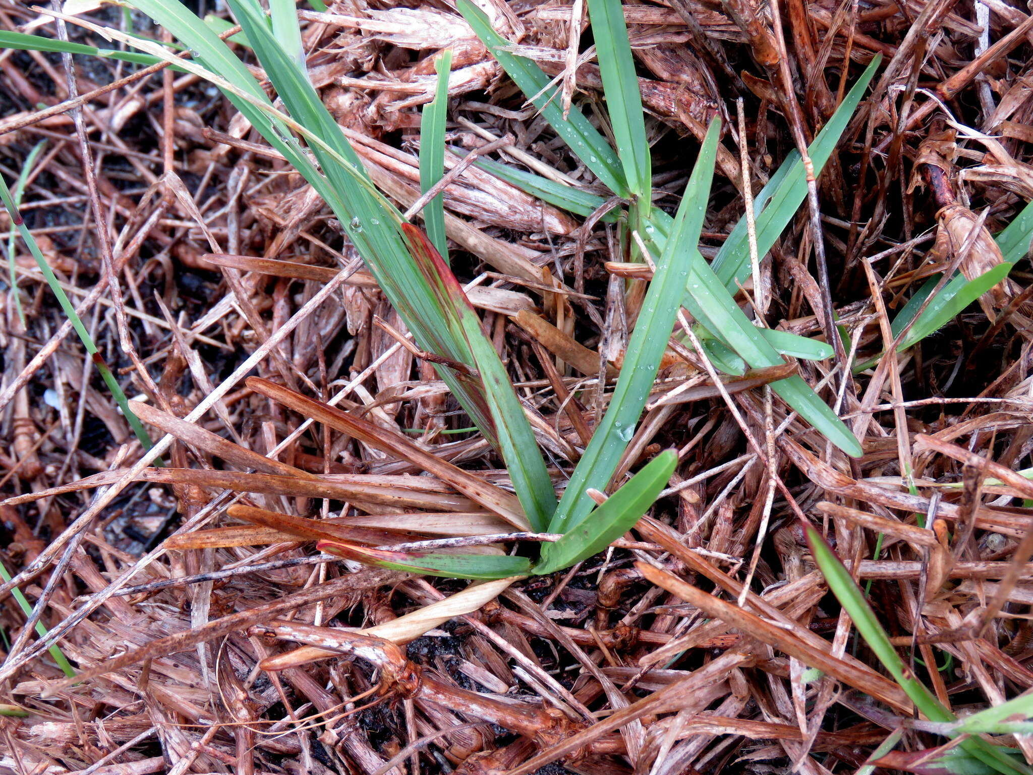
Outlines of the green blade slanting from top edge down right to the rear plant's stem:
{"label": "green blade slanting from top edge down right to the rear plant's stem", "polygon": [[576,107],[571,106],[567,117],[563,118],[563,109],[558,104],[557,87],[550,86],[550,78],[530,59],[506,51],[509,41],[492,29],[488,16],[480,8],[470,0],[457,0],[456,7],[489,53],[541,112],[556,133],[563,137],[574,155],[611,191],[627,198],[628,182],[624,177],[621,160],[599,130]]}

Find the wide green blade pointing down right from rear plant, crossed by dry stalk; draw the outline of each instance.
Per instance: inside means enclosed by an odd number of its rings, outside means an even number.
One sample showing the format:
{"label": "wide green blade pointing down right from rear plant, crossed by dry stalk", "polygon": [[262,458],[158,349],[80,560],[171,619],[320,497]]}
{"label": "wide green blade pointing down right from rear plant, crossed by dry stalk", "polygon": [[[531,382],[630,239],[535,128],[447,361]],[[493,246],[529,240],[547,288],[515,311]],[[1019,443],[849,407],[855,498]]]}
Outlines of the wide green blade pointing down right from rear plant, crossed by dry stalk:
{"label": "wide green blade pointing down right from rear plant, crossed by dry stalk", "polygon": [[[752,368],[780,366],[783,362],[778,351],[739,308],[707,259],[698,250],[693,252],[695,257],[689,275],[689,293],[685,300],[692,316],[715,335],[720,332],[720,338]],[[779,379],[771,386],[801,417],[840,450],[854,458],[864,454],[860,442],[850,429],[801,377]]]}

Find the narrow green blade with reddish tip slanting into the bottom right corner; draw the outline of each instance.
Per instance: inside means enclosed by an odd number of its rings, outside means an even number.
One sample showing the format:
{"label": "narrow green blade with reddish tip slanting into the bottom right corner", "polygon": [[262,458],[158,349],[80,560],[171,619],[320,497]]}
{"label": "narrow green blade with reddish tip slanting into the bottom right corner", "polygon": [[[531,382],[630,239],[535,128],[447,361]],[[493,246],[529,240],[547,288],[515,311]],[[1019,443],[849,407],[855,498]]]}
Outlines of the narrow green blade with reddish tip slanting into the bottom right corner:
{"label": "narrow green blade with reddish tip slanting into the bottom right corner", "polygon": [[[846,569],[825,539],[810,525],[804,527],[811,556],[814,557],[814,561],[828,582],[829,590],[850,615],[857,631],[889,675],[894,677],[894,680],[911,698],[915,707],[930,721],[956,721],[957,716],[945,708],[921,681],[914,677],[911,670],[901,659],[897,649],[889,642],[889,636],[882,628],[878,617],[865,597],[865,593],[862,592],[860,587],[850,576],[850,571]],[[1009,774],[1031,772],[1025,764],[1010,758],[1008,754],[1012,749],[993,745],[981,738],[966,738],[959,742],[959,747],[994,768],[997,772]]]}

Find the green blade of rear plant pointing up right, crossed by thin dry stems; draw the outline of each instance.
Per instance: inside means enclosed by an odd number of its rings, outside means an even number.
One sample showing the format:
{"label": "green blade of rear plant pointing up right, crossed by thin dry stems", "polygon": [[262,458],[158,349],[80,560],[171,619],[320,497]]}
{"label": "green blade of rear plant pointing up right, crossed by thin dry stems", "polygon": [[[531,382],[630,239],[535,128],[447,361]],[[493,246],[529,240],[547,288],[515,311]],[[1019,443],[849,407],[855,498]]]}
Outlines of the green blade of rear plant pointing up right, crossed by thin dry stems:
{"label": "green blade of rear plant pointing up right, crossed by thin dry stems", "polygon": [[[836,113],[828,119],[828,123],[818,132],[814,142],[807,149],[814,164],[815,175],[821,172],[832,156],[836,144],[839,143],[840,136],[846,129],[853,112],[857,109],[857,104],[881,61],[881,54],[872,60],[857,83],[843,98],[843,102],[836,109]],[[785,169],[784,174],[782,173],[783,168]],[[779,167],[778,174],[773,176],[768,186],[757,197],[758,204],[768,199],[766,206],[756,218],[758,255],[762,256],[771,250],[775,240],[796,214],[805,196],[807,196],[807,179],[804,164],[799,154],[790,154]],[[739,289],[738,283],[745,282],[746,278],[749,277],[749,235],[747,234],[745,217],[740,219],[731,234],[728,235],[728,239],[725,240],[714,258],[713,267],[714,273],[732,293]]]}

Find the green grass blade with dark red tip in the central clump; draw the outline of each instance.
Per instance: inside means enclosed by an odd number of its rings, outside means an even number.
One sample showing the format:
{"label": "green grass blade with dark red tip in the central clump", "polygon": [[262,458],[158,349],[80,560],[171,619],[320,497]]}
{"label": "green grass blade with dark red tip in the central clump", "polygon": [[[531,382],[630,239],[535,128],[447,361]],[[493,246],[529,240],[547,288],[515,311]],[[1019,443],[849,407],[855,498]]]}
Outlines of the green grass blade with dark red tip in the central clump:
{"label": "green grass blade with dark red tip in the central clump", "polygon": [[480,373],[483,395],[495,421],[496,437],[513,490],[531,528],[540,532],[546,528],[556,510],[556,491],[512,381],[495,345],[484,336],[480,318],[448,265],[418,228],[406,224],[405,233],[413,257],[426,274],[428,283],[434,284],[445,300],[442,306],[456,310],[458,327],[470,347],[472,363]]}

